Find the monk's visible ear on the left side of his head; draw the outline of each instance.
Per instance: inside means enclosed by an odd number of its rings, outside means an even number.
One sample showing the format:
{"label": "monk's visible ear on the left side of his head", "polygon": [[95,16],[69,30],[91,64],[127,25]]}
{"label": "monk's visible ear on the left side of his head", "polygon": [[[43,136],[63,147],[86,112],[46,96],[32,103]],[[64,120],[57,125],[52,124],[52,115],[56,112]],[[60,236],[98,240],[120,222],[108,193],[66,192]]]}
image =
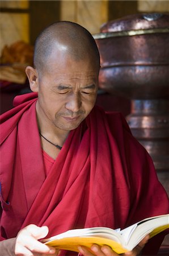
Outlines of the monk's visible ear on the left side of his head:
{"label": "monk's visible ear on the left side of his head", "polygon": [[35,68],[32,68],[31,66],[26,67],[26,74],[29,80],[29,86],[32,90],[32,92],[38,92],[39,90],[39,81],[38,81],[38,75]]}

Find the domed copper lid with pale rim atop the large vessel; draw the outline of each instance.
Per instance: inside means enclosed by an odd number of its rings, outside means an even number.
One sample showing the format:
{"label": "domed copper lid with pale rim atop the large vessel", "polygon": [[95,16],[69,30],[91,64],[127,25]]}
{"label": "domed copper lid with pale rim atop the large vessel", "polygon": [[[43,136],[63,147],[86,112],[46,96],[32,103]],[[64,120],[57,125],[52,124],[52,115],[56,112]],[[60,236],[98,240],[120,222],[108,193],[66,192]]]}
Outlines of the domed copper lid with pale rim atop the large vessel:
{"label": "domed copper lid with pale rim atop the large vessel", "polygon": [[116,36],[132,36],[142,34],[169,32],[169,15],[161,13],[133,14],[121,19],[104,23],[95,39]]}

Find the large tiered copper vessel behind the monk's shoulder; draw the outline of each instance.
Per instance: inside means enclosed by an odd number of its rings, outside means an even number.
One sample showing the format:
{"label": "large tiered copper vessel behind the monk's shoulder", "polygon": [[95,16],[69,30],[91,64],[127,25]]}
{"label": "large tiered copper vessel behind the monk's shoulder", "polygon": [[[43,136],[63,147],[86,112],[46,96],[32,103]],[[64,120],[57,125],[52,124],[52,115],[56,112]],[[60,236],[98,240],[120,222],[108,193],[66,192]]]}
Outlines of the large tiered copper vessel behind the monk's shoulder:
{"label": "large tiered copper vessel behind the monk's shoulder", "polygon": [[133,135],[157,171],[168,171],[169,15],[129,15],[104,24],[94,38],[100,88],[130,98]]}

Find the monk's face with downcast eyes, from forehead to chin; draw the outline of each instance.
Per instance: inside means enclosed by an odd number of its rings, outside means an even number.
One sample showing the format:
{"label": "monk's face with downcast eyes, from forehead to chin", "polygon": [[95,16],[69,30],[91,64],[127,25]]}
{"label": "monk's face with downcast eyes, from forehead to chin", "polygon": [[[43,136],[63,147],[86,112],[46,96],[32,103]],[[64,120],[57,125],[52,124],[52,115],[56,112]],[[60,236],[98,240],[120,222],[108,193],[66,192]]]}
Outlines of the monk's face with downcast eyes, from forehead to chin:
{"label": "monk's face with downcast eyes, from forehead to chin", "polygon": [[98,68],[90,58],[75,61],[60,52],[47,65],[39,77],[37,117],[61,130],[73,130],[94,107]]}

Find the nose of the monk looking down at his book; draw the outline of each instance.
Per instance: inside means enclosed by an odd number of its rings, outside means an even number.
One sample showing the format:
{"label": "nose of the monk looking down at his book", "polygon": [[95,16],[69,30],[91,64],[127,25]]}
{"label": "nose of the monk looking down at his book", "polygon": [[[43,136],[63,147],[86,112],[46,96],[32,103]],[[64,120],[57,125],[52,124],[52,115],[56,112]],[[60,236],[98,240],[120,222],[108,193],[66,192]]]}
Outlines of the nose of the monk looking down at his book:
{"label": "nose of the monk looking down at his book", "polygon": [[81,105],[81,96],[78,93],[71,93],[65,107],[66,109],[71,110],[71,112],[78,112]]}

